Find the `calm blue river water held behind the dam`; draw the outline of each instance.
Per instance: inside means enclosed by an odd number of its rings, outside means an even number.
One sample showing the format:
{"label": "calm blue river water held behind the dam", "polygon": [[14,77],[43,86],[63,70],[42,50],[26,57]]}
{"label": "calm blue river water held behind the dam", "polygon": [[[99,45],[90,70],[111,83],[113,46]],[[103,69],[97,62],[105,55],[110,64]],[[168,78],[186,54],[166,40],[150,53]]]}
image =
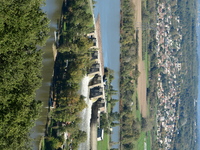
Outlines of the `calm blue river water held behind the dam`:
{"label": "calm blue river water held behind the dam", "polygon": [[[95,18],[100,14],[101,37],[104,65],[114,70],[112,85],[119,91],[120,73],[120,0],[96,0],[94,14]],[[119,92],[113,98],[119,99]],[[119,103],[116,103],[114,112],[119,112]],[[111,140],[119,142],[119,126],[113,128]],[[113,146],[119,148],[119,144]]]}

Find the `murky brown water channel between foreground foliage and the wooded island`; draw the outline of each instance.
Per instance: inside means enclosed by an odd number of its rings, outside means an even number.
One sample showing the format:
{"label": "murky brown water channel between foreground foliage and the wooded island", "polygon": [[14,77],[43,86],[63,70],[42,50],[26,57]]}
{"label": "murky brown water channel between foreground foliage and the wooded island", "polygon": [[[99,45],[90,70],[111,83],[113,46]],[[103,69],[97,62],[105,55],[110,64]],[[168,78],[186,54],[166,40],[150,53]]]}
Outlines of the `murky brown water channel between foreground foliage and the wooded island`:
{"label": "murky brown water channel between foreground foliage and the wooded island", "polygon": [[44,136],[45,125],[47,121],[49,89],[54,67],[54,31],[57,30],[57,22],[60,19],[62,2],[63,0],[46,0],[46,6],[42,7],[44,12],[47,13],[48,18],[51,20],[49,33],[50,38],[47,40],[46,46],[42,48],[44,51],[42,68],[43,81],[40,89],[36,91],[36,99],[43,102],[43,107],[41,110],[42,112],[40,114],[40,118],[36,121],[36,125],[33,127],[31,132],[31,137],[34,138],[33,150],[39,149],[39,142],[42,136]]}

